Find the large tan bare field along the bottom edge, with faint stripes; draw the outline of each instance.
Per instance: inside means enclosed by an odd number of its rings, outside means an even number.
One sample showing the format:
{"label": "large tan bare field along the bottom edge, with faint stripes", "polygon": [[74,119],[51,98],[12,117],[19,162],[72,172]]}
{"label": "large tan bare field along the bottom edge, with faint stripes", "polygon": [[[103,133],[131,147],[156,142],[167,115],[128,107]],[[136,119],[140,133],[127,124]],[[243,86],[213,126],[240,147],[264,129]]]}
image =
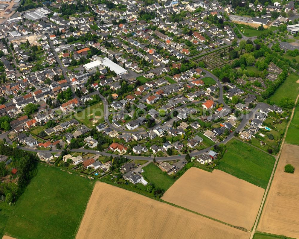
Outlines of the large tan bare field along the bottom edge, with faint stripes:
{"label": "large tan bare field along the bottom edge, with faint stripes", "polygon": [[76,239],[97,238],[247,239],[249,233],[97,182]]}

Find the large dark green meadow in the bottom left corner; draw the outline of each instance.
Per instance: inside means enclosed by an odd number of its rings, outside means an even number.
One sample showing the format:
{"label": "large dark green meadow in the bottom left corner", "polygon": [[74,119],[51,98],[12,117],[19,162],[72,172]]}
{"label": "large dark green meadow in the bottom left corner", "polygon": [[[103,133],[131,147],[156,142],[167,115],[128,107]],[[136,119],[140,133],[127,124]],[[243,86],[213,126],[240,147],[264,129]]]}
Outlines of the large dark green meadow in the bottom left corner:
{"label": "large dark green meadow in the bottom left corner", "polygon": [[18,239],[75,238],[93,182],[44,164],[37,170],[16,205],[0,211],[0,234]]}

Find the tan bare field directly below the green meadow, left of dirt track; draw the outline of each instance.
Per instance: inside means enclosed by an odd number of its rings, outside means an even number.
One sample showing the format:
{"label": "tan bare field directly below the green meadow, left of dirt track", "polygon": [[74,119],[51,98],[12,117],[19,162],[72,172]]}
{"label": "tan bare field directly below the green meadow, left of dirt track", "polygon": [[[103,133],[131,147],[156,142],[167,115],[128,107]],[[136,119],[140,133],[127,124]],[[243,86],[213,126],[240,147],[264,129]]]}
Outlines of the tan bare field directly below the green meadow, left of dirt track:
{"label": "tan bare field directly below the green meadow, left of dirt track", "polygon": [[190,168],[161,199],[251,230],[264,189],[220,170]]}

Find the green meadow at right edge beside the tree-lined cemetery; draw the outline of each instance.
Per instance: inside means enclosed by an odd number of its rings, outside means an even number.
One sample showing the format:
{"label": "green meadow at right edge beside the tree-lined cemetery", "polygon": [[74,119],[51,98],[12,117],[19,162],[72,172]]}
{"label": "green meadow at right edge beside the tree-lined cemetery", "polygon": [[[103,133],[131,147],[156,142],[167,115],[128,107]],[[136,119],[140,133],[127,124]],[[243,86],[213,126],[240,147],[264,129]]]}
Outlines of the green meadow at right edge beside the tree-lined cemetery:
{"label": "green meadow at right edge beside the tree-lined cemetery", "polygon": [[279,101],[283,97],[288,97],[295,101],[299,92],[299,84],[296,83],[297,80],[299,80],[298,74],[291,73],[274,94],[271,95],[270,101],[274,101],[277,105],[279,105]]}

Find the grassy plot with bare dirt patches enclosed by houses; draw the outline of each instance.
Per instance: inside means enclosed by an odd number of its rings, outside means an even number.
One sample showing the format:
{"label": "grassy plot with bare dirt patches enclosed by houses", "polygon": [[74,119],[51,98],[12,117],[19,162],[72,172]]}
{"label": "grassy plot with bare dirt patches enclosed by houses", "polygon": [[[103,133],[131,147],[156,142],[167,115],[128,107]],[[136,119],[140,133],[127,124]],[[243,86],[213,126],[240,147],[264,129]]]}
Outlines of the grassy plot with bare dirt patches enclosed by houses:
{"label": "grassy plot with bare dirt patches enclosed by houses", "polygon": [[[97,118],[98,116],[100,118]],[[88,128],[97,126],[100,123],[104,123],[104,104],[102,101],[89,106],[82,111],[75,114],[77,121],[85,124]],[[97,122],[93,122],[97,120]]]}

